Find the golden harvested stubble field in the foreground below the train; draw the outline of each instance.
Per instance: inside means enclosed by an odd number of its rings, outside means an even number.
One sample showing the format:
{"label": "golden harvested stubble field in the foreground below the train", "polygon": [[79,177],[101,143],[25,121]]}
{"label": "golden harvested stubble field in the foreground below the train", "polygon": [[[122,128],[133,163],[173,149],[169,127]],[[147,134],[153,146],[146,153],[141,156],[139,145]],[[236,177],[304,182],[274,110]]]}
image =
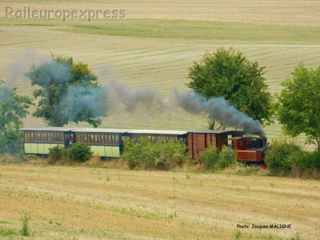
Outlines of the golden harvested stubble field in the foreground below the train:
{"label": "golden harvested stubble field in the foreground below the train", "polygon": [[320,237],[315,180],[4,164],[0,194],[0,227],[19,232],[28,211],[33,239]]}

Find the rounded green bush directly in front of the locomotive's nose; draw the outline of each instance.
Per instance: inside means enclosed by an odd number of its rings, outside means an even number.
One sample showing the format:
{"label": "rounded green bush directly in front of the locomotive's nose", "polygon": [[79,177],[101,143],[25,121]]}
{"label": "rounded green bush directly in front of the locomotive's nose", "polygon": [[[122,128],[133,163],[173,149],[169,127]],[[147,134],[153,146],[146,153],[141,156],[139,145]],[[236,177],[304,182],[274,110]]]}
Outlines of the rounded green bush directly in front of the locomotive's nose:
{"label": "rounded green bush directly in front of the locomotive's nose", "polygon": [[302,148],[293,139],[273,139],[272,148],[268,149],[264,161],[271,175],[286,175],[291,171],[292,156],[299,156]]}

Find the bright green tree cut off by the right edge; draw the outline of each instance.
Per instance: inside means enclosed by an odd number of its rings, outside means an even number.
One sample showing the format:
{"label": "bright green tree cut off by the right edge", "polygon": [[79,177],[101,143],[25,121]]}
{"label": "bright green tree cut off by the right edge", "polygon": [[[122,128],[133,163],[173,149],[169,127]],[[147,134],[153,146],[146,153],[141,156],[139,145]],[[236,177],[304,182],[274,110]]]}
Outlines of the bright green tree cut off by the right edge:
{"label": "bright green tree cut off by the right edge", "polygon": [[304,132],[305,143],[316,144],[320,151],[320,66],[307,69],[300,63],[291,74],[276,95],[277,120],[285,134],[296,137]]}

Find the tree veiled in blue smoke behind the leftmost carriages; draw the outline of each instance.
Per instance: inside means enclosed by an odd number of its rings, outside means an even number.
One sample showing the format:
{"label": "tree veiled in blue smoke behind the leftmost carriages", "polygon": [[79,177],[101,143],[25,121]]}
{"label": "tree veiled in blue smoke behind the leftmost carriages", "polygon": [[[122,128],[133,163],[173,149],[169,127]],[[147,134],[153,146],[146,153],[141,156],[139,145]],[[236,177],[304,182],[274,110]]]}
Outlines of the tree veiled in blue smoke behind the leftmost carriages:
{"label": "tree veiled in blue smoke behind the leftmost carriages", "polygon": [[100,117],[108,116],[106,90],[98,85],[88,64],[52,55],[51,62],[33,66],[25,76],[31,86],[40,87],[33,91],[35,99],[40,98],[33,116],[43,118],[49,126],[84,121],[97,127]]}

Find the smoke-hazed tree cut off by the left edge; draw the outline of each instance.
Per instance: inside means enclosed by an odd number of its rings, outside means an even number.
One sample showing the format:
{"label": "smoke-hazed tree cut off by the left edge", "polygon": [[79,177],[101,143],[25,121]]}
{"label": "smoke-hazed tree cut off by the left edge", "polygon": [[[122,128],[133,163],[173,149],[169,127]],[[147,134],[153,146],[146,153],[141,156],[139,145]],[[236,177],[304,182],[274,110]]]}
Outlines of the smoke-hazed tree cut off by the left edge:
{"label": "smoke-hazed tree cut off by the left edge", "polygon": [[[0,84],[4,81],[0,80]],[[26,117],[32,100],[16,93],[17,88],[0,87],[0,153],[13,154],[22,146],[19,128]]]}

